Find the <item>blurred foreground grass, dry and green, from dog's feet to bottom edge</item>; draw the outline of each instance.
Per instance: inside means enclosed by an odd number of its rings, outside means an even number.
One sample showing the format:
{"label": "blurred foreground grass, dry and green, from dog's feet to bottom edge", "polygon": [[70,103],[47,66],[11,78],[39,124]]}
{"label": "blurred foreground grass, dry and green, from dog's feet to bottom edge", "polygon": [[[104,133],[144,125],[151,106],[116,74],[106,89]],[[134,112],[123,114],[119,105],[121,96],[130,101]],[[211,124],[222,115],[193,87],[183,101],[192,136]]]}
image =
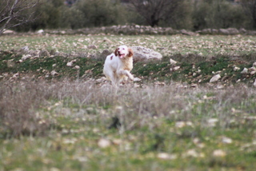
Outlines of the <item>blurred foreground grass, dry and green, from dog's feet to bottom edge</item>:
{"label": "blurred foreground grass, dry and green, from dog's feet to bottom edge", "polygon": [[[116,90],[67,79],[1,84],[0,170],[254,167],[256,92],[246,85],[187,88],[171,82]],[[106,149],[97,144],[102,138],[110,141]],[[213,157],[216,149],[223,156]]]}

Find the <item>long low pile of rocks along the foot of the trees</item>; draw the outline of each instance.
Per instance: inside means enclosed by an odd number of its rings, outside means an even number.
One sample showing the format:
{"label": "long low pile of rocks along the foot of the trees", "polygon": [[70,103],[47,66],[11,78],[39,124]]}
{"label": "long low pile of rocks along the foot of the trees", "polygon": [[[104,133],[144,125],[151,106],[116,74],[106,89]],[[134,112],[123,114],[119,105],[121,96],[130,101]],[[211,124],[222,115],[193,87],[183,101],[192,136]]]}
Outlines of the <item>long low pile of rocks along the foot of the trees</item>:
{"label": "long low pile of rocks along the foot of the trees", "polygon": [[[6,30],[3,34],[17,34],[12,30]],[[29,33],[32,34],[32,33]],[[204,29],[196,32],[190,30],[174,30],[171,27],[151,27],[151,26],[139,26],[139,25],[125,25],[125,26],[102,26],[94,28],[84,28],[78,30],[38,30],[34,34],[123,34],[123,35],[173,35],[173,34],[184,34],[189,36],[200,35],[200,34],[221,34],[221,35],[234,35],[234,34],[246,34],[256,35],[254,30],[245,29]]]}

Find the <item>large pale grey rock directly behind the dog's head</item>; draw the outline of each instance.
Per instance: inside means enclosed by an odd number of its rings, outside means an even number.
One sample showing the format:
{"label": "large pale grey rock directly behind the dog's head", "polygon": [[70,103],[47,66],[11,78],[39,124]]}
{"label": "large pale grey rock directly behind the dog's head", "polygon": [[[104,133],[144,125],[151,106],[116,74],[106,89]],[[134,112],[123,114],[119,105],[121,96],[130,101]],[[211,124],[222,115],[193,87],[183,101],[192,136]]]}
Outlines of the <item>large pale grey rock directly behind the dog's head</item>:
{"label": "large pale grey rock directly behind the dog's head", "polygon": [[134,51],[134,62],[142,62],[150,59],[162,59],[162,54],[142,46],[130,47]]}

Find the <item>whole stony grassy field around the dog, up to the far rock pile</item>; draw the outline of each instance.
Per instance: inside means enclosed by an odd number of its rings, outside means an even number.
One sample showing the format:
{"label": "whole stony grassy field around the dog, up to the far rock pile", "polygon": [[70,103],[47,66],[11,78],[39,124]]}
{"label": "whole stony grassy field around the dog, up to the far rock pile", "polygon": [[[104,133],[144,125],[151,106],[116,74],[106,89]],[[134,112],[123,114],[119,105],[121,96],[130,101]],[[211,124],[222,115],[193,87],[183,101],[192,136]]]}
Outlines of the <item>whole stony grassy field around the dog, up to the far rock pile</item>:
{"label": "whole stony grassy field around the dog, up to the far rock pile", "polygon": [[[113,89],[102,51],[122,43],[163,59]],[[21,62],[24,46],[49,55]],[[2,36],[0,171],[254,170],[255,47],[240,35]]]}

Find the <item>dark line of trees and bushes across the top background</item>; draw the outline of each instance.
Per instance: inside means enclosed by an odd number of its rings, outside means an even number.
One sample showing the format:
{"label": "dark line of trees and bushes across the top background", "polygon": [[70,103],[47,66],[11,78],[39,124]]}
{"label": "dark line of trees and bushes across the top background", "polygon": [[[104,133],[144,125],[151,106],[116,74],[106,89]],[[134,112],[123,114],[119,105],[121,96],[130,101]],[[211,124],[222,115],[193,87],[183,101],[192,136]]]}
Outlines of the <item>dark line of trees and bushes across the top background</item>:
{"label": "dark line of trees and bushes across the top background", "polygon": [[135,23],[174,29],[256,28],[256,0],[2,0],[4,29],[78,29]]}

